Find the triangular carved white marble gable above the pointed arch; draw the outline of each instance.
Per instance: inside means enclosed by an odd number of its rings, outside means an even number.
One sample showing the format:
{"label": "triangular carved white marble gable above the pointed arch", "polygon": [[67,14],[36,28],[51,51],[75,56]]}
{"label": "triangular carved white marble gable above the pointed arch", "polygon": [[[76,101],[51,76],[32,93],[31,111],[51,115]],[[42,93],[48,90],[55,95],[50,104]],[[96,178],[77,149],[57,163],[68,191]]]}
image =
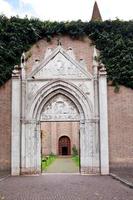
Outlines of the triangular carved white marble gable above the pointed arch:
{"label": "triangular carved white marble gable above the pointed arch", "polygon": [[68,54],[61,46],[48,53],[43,61],[34,66],[29,78],[54,79],[54,78],[88,78],[92,75],[87,67]]}

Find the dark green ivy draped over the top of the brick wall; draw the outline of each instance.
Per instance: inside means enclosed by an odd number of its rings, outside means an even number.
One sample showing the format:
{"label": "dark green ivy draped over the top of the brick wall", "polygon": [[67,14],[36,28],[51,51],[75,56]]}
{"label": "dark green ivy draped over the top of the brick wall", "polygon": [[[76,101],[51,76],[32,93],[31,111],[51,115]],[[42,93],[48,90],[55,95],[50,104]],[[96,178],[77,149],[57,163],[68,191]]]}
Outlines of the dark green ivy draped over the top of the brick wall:
{"label": "dark green ivy draped over the top of the brick wall", "polygon": [[14,65],[39,39],[48,42],[54,36],[69,35],[73,39],[89,37],[105,64],[108,80],[113,85],[133,88],[133,21],[124,22],[42,22],[38,19],[0,16],[0,85],[10,77]]}

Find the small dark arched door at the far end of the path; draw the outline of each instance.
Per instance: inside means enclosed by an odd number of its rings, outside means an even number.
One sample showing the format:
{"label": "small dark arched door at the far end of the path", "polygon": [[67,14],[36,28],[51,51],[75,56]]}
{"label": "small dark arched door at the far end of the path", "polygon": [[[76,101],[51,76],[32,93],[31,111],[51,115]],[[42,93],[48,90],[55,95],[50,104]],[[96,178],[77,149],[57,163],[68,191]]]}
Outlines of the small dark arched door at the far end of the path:
{"label": "small dark arched door at the far end of the path", "polygon": [[62,136],[59,138],[59,155],[67,156],[71,154],[71,141],[67,136]]}

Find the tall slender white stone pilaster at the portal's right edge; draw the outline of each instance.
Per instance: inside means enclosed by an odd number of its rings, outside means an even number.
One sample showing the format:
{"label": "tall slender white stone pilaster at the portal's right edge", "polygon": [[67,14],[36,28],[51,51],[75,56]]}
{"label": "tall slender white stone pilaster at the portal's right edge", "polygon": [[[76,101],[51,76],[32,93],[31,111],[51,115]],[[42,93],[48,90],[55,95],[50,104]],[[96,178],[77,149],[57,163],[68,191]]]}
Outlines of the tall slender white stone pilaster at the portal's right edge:
{"label": "tall slender white stone pilaster at the portal's right edge", "polygon": [[101,174],[109,174],[107,78],[104,66],[99,71],[99,110],[100,110],[100,164]]}

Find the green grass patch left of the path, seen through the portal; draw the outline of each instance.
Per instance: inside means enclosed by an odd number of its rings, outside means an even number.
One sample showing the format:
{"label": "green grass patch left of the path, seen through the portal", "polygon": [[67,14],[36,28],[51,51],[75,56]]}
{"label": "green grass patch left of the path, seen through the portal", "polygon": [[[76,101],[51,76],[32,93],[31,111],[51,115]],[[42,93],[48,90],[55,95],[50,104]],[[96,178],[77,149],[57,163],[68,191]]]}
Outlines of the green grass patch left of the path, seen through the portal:
{"label": "green grass patch left of the path, seen through the portal", "polygon": [[49,155],[49,156],[42,156],[42,171],[46,171],[49,165],[53,163],[53,161],[56,159],[55,155]]}

